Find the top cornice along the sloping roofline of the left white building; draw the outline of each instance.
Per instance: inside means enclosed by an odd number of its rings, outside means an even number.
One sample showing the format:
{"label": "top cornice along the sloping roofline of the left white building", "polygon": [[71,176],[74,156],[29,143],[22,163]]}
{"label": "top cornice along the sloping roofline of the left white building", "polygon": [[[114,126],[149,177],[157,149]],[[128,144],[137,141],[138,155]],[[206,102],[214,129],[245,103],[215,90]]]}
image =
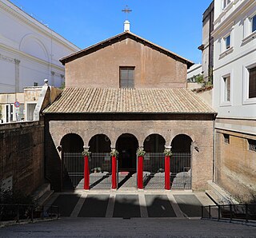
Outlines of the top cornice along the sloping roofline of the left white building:
{"label": "top cornice along the sloping roofline of the left white building", "polygon": [[63,38],[60,34],[56,33],[54,30],[51,30],[50,28],[44,26],[41,22],[38,22],[38,20],[31,17],[29,14],[26,14],[26,12],[20,10],[18,6],[15,6],[12,2],[9,2],[9,3],[10,5],[13,5],[14,8],[16,8],[16,10],[6,5],[4,2],[0,1],[0,7],[2,8],[2,10],[6,10],[6,12],[13,15],[15,18],[18,18],[19,20],[33,27],[34,29],[38,30],[42,34],[45,34],[49,38],[53,38],[56,42],[62,44],[62,46],[65,46],[72,51],[80,50],[78,46],[75,46],[73,43],[66,40],[66,38]]}

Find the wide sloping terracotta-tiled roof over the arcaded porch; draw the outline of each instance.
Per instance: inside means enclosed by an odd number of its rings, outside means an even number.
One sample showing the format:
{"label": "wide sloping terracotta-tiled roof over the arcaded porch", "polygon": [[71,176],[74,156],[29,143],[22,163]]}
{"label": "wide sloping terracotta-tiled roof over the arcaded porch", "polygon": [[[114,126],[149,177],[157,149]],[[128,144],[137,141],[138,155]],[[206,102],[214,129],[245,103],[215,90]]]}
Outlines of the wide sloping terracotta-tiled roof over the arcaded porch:
{"label": "wide sloping terracotta-tiled roof over the arcaded porch", "polygon": [[44,113],[215,113],[190,89],[66,88]]}

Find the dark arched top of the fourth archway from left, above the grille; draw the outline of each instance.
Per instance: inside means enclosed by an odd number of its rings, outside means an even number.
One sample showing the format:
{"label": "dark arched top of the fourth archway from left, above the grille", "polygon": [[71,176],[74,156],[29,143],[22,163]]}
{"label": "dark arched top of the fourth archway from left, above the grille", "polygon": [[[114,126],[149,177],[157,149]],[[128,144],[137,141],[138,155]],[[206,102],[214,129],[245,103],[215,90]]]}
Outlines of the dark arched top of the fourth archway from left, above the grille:
{"label": "dark arched top of the fourth archway from left, above the grille", "polygon": [[159,134],[150,134],[146,137],[143,146],[146,152],[162,153],[165,149],[166,140]]}

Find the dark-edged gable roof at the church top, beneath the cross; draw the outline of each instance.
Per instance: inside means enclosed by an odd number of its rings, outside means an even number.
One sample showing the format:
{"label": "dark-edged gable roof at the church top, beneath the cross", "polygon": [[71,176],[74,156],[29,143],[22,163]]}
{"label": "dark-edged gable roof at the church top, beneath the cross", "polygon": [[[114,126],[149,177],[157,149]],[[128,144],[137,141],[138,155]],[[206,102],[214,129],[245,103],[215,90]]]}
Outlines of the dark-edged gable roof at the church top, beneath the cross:
{"label": "dark-edged gable roof at the church top, beneath the cross", "polygon": [[66,57],[61,58],[59,61],[62,62],[62,65],[65,65],[66,62],[73,61],[75,58],[80,58],[85,56],[86,54],[91,54],[97,50],[100,50],[106,46],[110,46],[114,44],[115,42],[121,42],[122,40],[130,38],[133,39],[136,42],[140,42],[141,44],[145,46],[149,46],[150,48],[154,50],[158,50],[162,54],[166,54],[171,58],[174,58],[175,60],[182,61],[185,63],[188,68],[190,68],[191,65],[194,65],[194,63],[186,58],[181,57],[178,54],[175,54],[174,52],[171,52],[170,50],[166,50],[162,46],[158,46],[144,38],[139,37],[137,34],[131,33],[130,31],[122,32],[121,34],[115,35],[112,38],[108,38],[102,42],[98,42],[97,44],[94,44],[93,46],[89,46],[86,49],[79,50],[78,52],[74,52],[72,54],[67,55]]}

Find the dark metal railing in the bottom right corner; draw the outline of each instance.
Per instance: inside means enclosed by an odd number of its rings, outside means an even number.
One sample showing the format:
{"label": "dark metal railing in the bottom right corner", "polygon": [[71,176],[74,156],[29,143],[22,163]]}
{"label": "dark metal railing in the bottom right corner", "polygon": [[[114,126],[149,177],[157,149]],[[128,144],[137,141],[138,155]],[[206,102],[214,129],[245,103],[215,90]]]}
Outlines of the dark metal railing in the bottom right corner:
{"label": "dark metal railing in the bottom right corner", "polygon": [[223,204],[202,206],[202,218],[216,220],[256,220],[256,204]]}

